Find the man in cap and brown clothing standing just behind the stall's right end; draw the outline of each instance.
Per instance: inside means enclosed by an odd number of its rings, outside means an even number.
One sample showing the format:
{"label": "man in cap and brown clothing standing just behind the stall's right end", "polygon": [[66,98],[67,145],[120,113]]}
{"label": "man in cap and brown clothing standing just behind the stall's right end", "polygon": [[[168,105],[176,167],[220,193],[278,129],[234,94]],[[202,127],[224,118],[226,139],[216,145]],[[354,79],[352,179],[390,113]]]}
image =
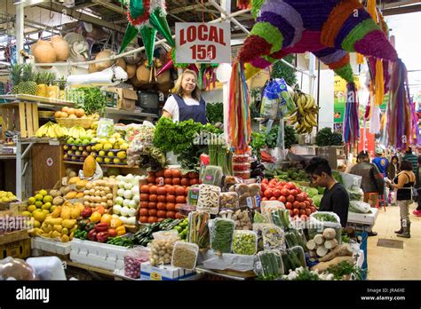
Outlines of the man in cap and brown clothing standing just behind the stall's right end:
{"label": "man in cap and brown clothing standing just behind the stall's right end", "polygon": [[[357,164],[353,166],[350,173],[359,175],[361,179],[361,189],[364,192],[364,202],[368,202],[371,207],[377,207],[379,194],[385,191],[385,178],[377,166],[369,162],[369,154],[361,151],[357,157]],[[376,236],[377,232],[369,232],[369,236]]]}

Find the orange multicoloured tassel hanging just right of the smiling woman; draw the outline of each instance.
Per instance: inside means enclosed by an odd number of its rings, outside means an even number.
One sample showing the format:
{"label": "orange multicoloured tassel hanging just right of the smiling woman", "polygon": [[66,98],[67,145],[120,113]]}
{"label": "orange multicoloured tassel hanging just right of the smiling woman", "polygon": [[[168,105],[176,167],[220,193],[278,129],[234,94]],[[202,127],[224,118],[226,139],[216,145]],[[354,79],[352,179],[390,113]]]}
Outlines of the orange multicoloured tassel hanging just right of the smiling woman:
{"label": "orange multicoloured tassel hanging just right of the smiling woman", "polygon": [[251,125],[249,91],[241,62],[235,62],[231,73],[229,91],[228,143],[236,154],[249,150]]}

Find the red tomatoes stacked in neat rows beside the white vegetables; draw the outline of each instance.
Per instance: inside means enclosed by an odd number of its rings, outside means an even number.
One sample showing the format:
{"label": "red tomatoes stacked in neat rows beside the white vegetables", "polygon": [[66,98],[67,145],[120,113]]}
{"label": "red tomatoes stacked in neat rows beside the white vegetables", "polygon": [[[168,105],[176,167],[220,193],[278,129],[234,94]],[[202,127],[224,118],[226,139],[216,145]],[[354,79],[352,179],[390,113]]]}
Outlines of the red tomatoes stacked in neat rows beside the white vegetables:
{"label": "red tomatoes stacked in neat rows beside the white vegetables", "polygon": [[187,202],[189,186],[199,183],[199,174],[179,170],[149,172],[147,185],[140,186],[140,223],[160,222],[164,218],[184,218],[179,205]]}

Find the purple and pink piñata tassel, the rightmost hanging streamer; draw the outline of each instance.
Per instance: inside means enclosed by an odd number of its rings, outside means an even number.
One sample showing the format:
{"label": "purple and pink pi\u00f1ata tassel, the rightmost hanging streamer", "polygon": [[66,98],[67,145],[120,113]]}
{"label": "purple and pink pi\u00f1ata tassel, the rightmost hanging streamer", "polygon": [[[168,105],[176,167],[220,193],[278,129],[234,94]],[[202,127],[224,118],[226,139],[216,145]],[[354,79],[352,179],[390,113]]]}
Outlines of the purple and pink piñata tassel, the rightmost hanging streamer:
{"label": "purple and pink pi\u00f1ata tassel, the rightmost hanging streamer", "polygon": [[387,113],[388,143],[405,150],[413,143],[413,122],[408,90],[408,73],[401,60],[393,63]]}

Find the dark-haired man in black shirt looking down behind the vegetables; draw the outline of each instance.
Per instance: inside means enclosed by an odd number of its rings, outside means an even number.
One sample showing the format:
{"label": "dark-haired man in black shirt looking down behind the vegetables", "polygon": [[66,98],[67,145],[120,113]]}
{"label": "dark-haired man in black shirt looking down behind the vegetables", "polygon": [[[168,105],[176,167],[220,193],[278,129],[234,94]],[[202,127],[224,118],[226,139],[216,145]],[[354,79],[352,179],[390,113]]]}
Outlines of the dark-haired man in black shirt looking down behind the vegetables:
{"label": "dark-haired man in black shirt looking down behind the vegetables", "polygon": [[315,157],[308,163],[306,172],[315,185],[325,188],[319,210],[335,212],[340,218],[340,224],[345,227],[348,221],[349,195],[346,188],[332,177],[329,162]]}

